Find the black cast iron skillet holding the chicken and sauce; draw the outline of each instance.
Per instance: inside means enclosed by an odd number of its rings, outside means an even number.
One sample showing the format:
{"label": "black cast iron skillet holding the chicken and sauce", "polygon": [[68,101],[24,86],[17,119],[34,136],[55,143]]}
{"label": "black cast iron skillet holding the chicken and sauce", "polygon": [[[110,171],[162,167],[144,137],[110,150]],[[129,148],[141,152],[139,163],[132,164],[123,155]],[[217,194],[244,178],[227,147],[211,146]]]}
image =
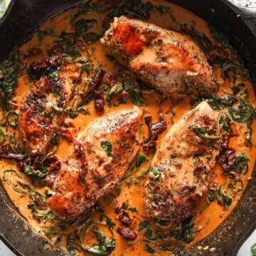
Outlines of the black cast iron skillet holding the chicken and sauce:
{"label": "black cast iron skillet holding the chicken and sauce", "polygon": [[[32,34],[48,17],[82,0],[13,0],[0,22],[0,59]],[[212,23],[230,39],[250,70],[256,91],[256,8],[238,8],[227,0],[171,0]],[[250,58],[248,55],[250,53]],[[255,131],[256,132],[256,131]],[[215,247],[211,255],[237,255],[242,242],[256,228],[256,169],[246,191],[228,218],[198,245]],[[0,238],[17,255],[59,256],[62,251],[45,247],[46,241],[26,226],[0,183]],[[181,255],[209,255],[191,247]]]}

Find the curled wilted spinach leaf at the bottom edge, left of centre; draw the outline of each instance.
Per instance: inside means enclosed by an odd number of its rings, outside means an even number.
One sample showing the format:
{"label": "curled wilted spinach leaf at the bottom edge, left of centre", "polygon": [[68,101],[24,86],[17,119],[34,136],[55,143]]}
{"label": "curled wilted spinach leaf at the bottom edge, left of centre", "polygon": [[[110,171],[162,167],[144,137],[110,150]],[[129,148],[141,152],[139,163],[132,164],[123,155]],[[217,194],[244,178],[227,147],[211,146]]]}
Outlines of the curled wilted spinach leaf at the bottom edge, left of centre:
{"label": "curled wilted spinach leaf at the bottom edge, left of centre", "polygon": [[93,233],[100,244],[92,245],[91,247],[82,245],[82,249],[95,255],[110,255],[116,246],[115,240],[107,238],[104,233],[97,228],[93,230]]}

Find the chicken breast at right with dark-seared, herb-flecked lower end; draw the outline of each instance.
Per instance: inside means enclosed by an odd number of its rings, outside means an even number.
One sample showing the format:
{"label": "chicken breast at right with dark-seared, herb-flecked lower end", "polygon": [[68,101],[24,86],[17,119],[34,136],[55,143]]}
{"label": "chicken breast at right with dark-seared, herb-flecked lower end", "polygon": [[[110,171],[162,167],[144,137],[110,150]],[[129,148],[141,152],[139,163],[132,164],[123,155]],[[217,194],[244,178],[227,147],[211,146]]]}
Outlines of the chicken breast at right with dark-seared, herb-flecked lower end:
{"label": "chicken breast at right with dark-seared, herb-flecked lower end", "polygon": [[187,112],[166,134],[146,182],[146,214],[180,221],[193,215],[208,190],[208,177],[220,150],[219,113],[207,102]]}

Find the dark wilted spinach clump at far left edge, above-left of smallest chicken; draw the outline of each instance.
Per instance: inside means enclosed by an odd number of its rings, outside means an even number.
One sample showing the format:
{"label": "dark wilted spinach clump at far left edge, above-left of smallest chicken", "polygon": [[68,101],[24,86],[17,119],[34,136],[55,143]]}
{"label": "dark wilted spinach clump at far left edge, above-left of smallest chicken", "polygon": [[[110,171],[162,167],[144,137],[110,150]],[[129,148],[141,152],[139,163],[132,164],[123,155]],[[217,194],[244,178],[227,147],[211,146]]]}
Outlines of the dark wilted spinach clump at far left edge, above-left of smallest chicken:
{"label": "dark wilted spinach clump at far left edge, above-left of smallest chicken", "polygon": [[9,101],[17,85],[19,65],[17,47],[0,63],[0,107],[5,111],[11,109]]}

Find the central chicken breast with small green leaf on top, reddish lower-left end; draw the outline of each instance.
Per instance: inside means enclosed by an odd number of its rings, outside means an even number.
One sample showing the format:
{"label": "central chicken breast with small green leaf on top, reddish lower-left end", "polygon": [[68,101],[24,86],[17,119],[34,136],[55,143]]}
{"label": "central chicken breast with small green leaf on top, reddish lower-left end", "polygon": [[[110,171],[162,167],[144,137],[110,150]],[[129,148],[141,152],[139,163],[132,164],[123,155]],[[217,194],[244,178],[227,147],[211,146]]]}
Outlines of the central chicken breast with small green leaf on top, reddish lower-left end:
{"label": "central chicken breast with small green leaf on top, reddish lower-left end", "polygon": [[122,181],[139,151],[141,126],[142,112],[134,107],[95,119],[80,132],[58,174],[48,174],[56,191],[48,199],[51,210],[73,220]]}

